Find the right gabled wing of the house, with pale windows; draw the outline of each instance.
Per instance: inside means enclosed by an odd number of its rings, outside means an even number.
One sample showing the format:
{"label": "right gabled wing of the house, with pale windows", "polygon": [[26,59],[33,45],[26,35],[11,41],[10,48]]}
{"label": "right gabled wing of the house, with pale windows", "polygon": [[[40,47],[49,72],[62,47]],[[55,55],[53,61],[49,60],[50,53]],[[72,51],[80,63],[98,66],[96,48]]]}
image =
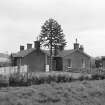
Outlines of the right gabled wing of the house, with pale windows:
{"label": "right gabled wing of the house, with pale windows", "polygon": [[62,50],[58,54],[62,58],[62,69],[90,69],[91,57],[84,52],[83,46],[74,43],[74,49]]}

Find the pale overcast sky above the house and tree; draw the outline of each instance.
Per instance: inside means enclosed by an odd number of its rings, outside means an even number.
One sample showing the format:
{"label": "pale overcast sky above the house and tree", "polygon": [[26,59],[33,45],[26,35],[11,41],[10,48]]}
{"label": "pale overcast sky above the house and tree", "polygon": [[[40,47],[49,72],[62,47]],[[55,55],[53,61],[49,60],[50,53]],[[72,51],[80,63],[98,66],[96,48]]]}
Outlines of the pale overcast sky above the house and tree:
{"label": "pale overcast sky above the house and tree", "polygon": [[49,18],[62,27],[72,49],[75,39],[93,57],[105,56],[105,0],[0,0],[0,52],[34,44]]}

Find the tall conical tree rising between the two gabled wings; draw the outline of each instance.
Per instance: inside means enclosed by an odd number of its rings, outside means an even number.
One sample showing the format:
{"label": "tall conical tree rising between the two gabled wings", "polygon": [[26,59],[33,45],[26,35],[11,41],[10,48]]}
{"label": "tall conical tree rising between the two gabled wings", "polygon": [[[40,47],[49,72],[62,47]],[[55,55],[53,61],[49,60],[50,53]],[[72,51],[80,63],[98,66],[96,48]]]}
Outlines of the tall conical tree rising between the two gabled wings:
{"label": "tall conical tree rising between the two gabled wings", "polygon": [[41,27],[39,39],[42,46],[46,46],[50,49],[50,57],[52,57],[52,50],[56,50],[59,46],[65,47],[66,40],[64,37],[65,35],[61,25],[52,18],[46,20]]}

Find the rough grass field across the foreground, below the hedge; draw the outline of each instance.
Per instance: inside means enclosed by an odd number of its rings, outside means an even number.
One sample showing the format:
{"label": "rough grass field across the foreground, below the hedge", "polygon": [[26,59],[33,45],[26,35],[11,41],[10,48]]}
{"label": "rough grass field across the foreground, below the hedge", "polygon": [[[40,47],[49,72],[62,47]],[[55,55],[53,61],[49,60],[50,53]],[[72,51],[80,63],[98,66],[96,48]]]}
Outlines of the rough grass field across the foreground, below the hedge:
{"label": "rough grass field across the foreground, below the hedge", "polygon": [[105,80],[1,88],[0,105],[105,105]]}

